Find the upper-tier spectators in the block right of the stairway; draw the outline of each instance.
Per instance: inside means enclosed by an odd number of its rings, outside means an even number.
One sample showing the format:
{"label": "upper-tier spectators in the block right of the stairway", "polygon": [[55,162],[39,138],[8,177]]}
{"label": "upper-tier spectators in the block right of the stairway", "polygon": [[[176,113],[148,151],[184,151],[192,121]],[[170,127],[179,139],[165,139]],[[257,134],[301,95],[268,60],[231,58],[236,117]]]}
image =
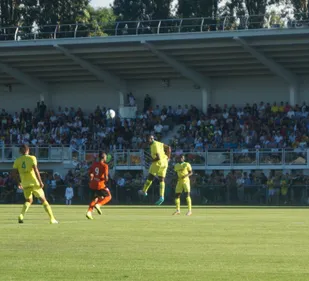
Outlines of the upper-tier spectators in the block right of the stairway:
{"label": "upper-tier spectators in the block right of the stairway", "polygon": [[[180,108],[180,107],[179,107]],[[208,106],[206,115],[190,115],[172,140],[174,148],[216,149],[306,148],[309,141],[309,107],[260,102]]]}

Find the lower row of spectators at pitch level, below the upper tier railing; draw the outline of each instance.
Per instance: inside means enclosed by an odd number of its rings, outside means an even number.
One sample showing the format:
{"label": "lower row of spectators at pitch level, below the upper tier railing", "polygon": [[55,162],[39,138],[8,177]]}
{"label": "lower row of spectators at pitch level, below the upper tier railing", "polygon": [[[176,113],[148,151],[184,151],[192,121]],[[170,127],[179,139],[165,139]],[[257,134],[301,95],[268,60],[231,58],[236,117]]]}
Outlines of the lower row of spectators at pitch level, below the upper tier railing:
{"label": "lower row of spectators at pitch level, below the upper tier railing", "polygon": [[[66,203],[67,187],[72,187],[73,204],[89,201],[88,167],[81,162],[64,177],[57,173],[43,172],[47,198],[53,203]],[[110,177],[109,188],[113,194],[112,204],[150,203],[158,196],[159,182],[154,181],[149,198],[144,201],[138,196],[145,178],[141,171],[118,171]],[[176,177],[166,178],[166,201],[173,203]],[[195,171],[191,177],[191,195],[195,204],[264,204],[264,205],[307,205],[309,204],[309,176],[303,171],[286,173],[260,170]],[[22,191],[10,173],[0,175],[0,203],[23,201]]]}

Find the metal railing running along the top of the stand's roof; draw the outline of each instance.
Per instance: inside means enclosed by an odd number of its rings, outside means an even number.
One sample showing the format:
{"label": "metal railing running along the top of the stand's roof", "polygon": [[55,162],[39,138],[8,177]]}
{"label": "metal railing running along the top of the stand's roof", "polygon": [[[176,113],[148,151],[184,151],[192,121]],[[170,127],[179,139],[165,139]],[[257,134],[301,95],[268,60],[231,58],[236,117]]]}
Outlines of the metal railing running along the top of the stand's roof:
{"label": "metal railing running along the top of the stand's roof", "polygon": [[162,20],[119,21],[105,24],[55,24],[43,26],[0,27],[1,40],[39,40],[58,38],[102,37],[140,34],[237,31],[277,28],[309,28],[308,13],[222,16],[217,18],[172,18]]}

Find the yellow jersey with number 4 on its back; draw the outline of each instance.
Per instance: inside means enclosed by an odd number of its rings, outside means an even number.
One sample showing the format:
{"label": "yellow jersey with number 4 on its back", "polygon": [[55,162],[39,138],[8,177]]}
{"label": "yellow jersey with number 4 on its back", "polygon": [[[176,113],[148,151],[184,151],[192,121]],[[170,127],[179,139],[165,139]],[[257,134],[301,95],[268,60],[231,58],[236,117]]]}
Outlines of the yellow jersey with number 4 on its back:
{"label": "yellow jersey with number 4 on its back", "polygon": [[14,161],[13,169],[17,169],[22,187],[40,186],[33,166],[37,165],[35,156],[23,155]]}

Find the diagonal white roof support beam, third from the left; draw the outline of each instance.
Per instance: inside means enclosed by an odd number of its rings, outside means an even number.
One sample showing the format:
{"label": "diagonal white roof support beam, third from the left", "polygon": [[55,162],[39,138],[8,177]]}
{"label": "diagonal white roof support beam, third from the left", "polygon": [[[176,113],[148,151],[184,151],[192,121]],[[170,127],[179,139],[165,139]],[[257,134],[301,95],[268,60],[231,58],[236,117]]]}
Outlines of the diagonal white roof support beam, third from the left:
{"label": "diagonal white roof support beam, third from the left", "polygon": [[171,67],[173,67],[176,71],[181,73],[184,77],[187,77],[194,83],[196,83],[198,86],[201,88],[207,89],[208,91],[210,90],[210,78],[202,75],[201,73],[190,69],[183,63],[180,63],[176,59],[166,55],[164,52],[159,51],[156,49],[155,46],[153,46],[151,43],[146,42],[146,41],[141,41],[141,43],[149,49],[152,53],[154,53],[158,58],[160,58],[162,61],[166,62],[169,64]]}

